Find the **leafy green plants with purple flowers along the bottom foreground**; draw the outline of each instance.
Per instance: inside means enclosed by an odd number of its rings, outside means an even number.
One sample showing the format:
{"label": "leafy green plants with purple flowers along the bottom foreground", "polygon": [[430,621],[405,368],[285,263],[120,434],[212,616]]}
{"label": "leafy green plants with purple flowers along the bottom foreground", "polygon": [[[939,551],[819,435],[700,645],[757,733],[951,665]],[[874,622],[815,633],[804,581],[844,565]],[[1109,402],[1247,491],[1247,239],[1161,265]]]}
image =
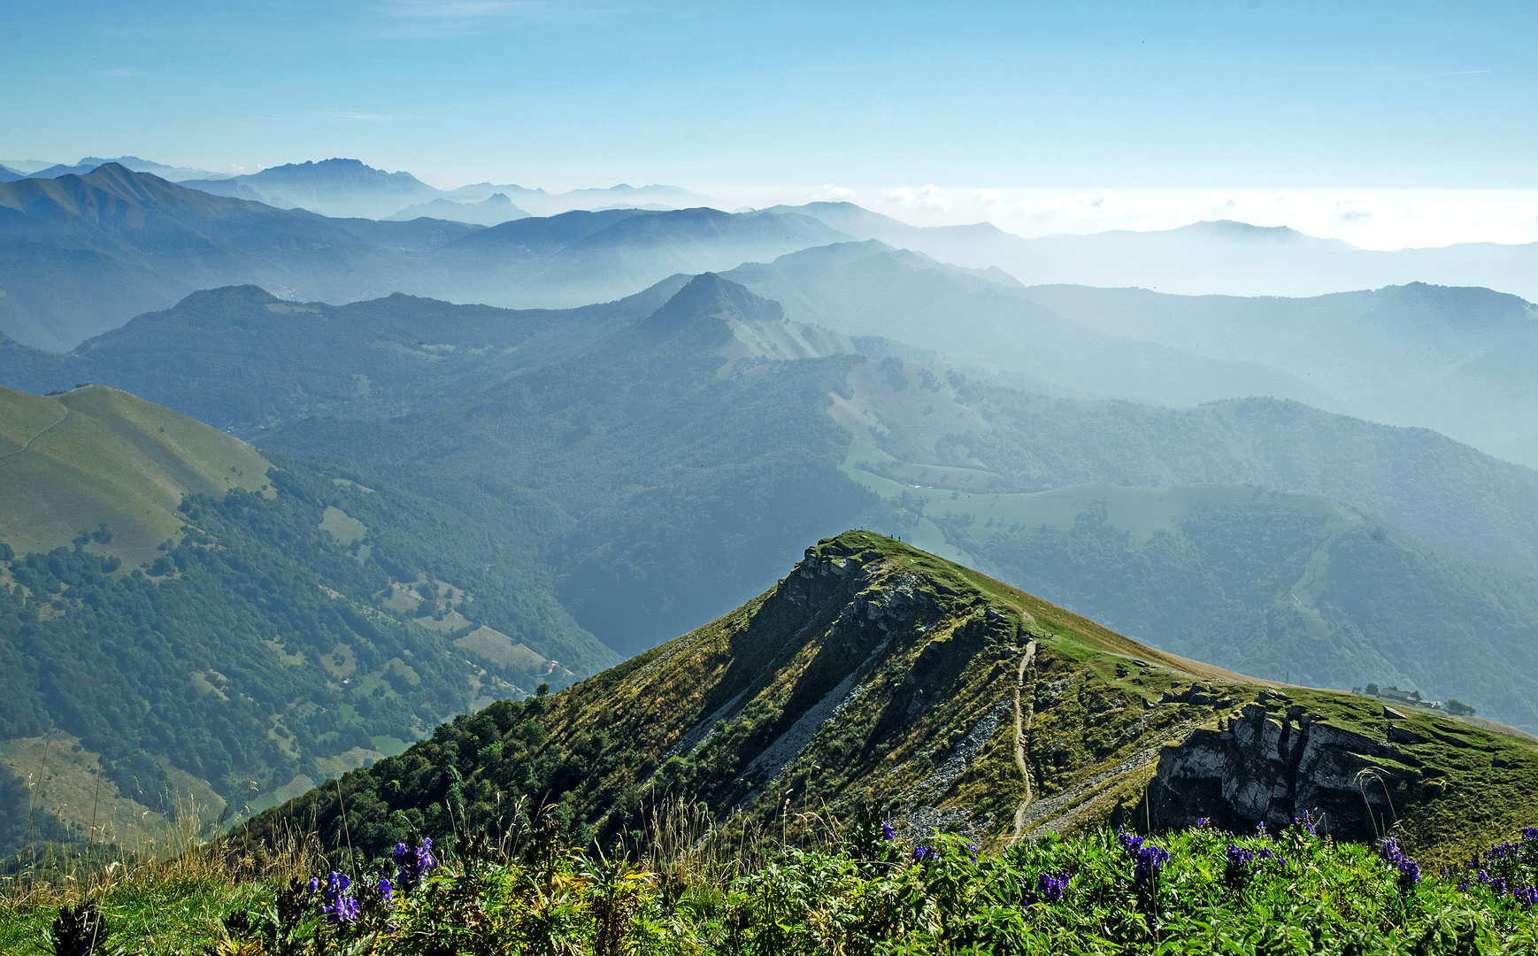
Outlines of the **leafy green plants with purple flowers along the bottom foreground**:
{"label": "leafy green plants with purple flowers along the bottom foreground", "polygon": [[[647,864],[554,833],[511,853],[477,842],[432,868],[418,851],[397,853],[383,870],[388,902],[371,865],[351,887],[335,881],[340,891],[325,876],[317,890],[295,881],[277,894],[271,884],[171,882],[122,887],[100,910],[128,951],[241,956],[1538,951],[1538,830],[1478,859],[1483,881],[1475,870],[1420,874],[1389,848],[1306,825],[1246,837],[1100,831],[975,856],[954,836],[901,847],[867,817],[838,847],[734,856],[681,842]],[[0,947],[51,951],[40,941],[52,916],[6,918]]]}

